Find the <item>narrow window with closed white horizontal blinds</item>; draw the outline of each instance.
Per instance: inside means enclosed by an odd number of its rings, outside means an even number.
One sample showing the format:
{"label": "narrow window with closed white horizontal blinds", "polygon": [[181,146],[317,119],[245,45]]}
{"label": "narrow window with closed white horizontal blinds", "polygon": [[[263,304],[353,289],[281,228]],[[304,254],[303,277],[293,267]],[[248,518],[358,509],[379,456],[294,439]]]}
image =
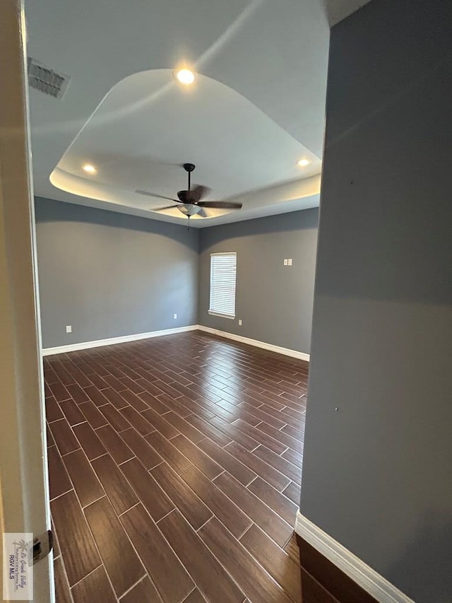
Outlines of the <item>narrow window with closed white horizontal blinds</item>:
{"label": "narrow window with closed white horizontal blinds", "polygon": [[225,318],[235,317],[236,274],[236,252],[210,254],[209,314]]}

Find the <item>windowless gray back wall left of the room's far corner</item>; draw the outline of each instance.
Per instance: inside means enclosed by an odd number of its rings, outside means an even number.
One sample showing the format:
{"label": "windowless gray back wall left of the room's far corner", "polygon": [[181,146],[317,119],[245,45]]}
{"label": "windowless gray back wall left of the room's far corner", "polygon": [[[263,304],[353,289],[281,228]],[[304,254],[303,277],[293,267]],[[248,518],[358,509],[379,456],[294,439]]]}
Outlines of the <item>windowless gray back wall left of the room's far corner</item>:
{"label": "windowless gray back wall left of the room's far corner", "polygon": [[48,199],[35,207],[44,348],[196,324],[198,230]]}

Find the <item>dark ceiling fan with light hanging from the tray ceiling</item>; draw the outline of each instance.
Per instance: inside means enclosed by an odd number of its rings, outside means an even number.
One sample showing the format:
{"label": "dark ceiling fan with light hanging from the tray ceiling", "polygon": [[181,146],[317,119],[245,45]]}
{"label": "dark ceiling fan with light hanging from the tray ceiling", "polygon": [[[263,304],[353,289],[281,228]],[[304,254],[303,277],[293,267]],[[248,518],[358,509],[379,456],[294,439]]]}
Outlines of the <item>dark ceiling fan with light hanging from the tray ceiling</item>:
{"label": "dark ceiling fan with light hanging from the tray ceiling", "polygon": [[[168,199],[168,201],[173,201],[173,205],[168,205],[166,207],[159,207],[154,211],[164,211],[165,209],[171,209],[172,207],[177,207],[184,216],[190,219],[191,216],[194,216],[198,213],[203,218],[207,218],[206,213],[204,212],[204,208],[218,208],[218,209],[240,209],[242,207],[241,203],[234,203],[232,201],[203,201],[203,197],[206,197],[209,194],[210,189],[208,187],[203,187],[202,185],[197,185],[194,189],[191,190],[191,172],[196,168],[194,163],[184,163],[182,166],[184,170],[189,175],[189,187],[186,191],[178,191],[177,197],[178,199],[172,199],[171,197],[164,197],[161,194],[153,194],[152,192],[136,190],[135,192],[138,194],[145,194],[149,197],[158,197],[159,199]],[[177,203],[177,205],[174,205]]]}

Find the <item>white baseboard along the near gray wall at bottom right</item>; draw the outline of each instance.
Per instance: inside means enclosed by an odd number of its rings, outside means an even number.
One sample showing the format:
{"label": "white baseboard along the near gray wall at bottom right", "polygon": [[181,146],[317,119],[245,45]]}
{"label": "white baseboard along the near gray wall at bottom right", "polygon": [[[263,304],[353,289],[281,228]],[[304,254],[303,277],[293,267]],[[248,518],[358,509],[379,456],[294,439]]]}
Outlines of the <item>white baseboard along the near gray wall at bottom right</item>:
{"label": "white baseboard along the near gray wall at bottom right", "polygon": [[295,532],[379,603],[415,603],[299,511],[295,520]]}

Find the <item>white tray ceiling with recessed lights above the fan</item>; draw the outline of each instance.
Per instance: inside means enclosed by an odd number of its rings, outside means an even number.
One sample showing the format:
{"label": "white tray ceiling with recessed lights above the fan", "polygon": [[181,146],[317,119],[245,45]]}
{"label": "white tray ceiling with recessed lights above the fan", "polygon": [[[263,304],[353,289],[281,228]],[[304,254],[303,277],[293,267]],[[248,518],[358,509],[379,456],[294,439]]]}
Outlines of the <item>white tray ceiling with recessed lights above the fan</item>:
{"label": "white tray ceiling with recessed lights above the fan", "polygon": [[[328,0],[338,4],[358,0]],[[28,0],[28,54],[72,77],[30,90],[35,194],[172,222],[162,199],[192,182],[243,209],[213,226],[319,203],[329,29],[321,0]],[[198,76],[182,88],[172,70]],[[311,164],[301,170],[300,157]],[[86,175],[81,165],[98,168]],[[52,175],[52,182],[49,177]]]}

